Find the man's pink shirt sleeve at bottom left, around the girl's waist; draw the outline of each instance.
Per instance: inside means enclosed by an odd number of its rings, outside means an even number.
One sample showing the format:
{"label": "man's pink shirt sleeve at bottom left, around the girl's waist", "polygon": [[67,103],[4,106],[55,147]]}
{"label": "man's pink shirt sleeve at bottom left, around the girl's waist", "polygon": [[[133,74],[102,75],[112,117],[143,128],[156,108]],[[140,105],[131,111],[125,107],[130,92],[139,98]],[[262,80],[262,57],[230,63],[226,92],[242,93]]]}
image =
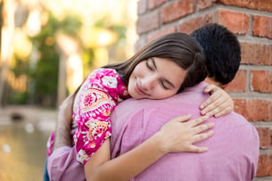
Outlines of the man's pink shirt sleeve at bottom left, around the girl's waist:
{"label": "man's pink shirt sleeve at bottom left, around the girl's waist", "polygon": [[75,147],[63,146],[55,150],[47,159],[50,180],[86,180],[84,166],[76,160]]}

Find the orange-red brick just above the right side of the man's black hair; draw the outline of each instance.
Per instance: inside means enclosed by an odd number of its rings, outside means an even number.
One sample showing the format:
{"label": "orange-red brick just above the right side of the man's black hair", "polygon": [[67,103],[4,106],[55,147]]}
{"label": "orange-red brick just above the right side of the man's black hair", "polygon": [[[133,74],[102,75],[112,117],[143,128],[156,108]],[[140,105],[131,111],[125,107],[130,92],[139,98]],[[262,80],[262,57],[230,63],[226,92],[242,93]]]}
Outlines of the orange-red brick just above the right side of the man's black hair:
{"label": "orange-red brick just above the right side of the man's black hair", "polygon": [[218,23],[235,34],[245,35],[249,29],[250,16],[243,12],[218,12]]}

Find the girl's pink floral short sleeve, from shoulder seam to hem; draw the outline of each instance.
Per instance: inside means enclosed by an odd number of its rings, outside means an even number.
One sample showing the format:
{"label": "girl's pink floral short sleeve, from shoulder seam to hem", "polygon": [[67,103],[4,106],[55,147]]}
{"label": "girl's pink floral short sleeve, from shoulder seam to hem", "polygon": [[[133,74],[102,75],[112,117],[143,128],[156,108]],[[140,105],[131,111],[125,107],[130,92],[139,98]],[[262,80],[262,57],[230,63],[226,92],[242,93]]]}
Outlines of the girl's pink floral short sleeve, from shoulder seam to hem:
{"label": "girl's pink floral short sleeve, from shoulder seam to hem", "polygon": [[78,132],[74,136],[77,160],[85,164],[111,136],[110,115],[116,103],[103,90],[90,88],[79,103]]}

